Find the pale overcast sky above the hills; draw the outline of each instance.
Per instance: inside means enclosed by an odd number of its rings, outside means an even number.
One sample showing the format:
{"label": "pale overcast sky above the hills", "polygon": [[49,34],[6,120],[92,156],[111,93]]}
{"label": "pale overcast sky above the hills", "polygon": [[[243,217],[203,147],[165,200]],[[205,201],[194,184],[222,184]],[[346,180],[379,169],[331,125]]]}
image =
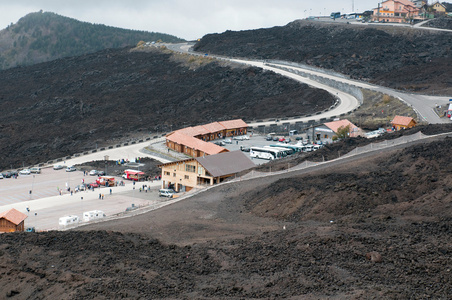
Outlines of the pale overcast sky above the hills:
{"label": "pale overcast sky above the hills", "polygon": [[282,26],[310,15],[369,10],[378,0],[0,0],[0,29],[39,10],[80,21],[172,34]]}

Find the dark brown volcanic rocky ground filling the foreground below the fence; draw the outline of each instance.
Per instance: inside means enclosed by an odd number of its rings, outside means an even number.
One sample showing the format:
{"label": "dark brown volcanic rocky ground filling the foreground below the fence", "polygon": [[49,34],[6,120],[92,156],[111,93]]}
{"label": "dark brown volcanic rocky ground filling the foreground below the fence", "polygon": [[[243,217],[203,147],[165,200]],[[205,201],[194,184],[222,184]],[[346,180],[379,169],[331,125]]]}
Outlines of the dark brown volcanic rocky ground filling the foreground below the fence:
{"label": "dark brown volcanic rocky ground filling the foreground below the fence", "polygon": [[84,231],[3,234],[0,297],[446,299],[452,142],[406,146]]}

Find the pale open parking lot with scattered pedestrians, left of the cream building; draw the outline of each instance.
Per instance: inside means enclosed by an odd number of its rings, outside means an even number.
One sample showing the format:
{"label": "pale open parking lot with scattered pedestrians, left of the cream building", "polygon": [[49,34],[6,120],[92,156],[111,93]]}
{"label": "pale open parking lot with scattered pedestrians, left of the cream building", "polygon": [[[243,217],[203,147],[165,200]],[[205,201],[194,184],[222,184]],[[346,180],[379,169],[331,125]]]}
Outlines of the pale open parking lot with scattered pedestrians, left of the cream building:
{"label": "pale open parking lot with scattered pedestrians, left of the cream building", "polygon": [[[110,188],[106,187],[72,193],[72,195],[66,190],[66,186],[74,189],[83,181],[90,183],[96,178],[96,176],[84,176],[82,171],[65,172],[65,169],[53,170],[50,167],[43,168],[41,174],[19,175],[17,179],[1,179],[0,211],[15,208],[28,215],[25,220],[26,227],[51,230],[61,229],[58,219],[63,216],[77,215],[82,219],[83,212],[91,210],[101,210],[107,216],[111,216],[125,212],[132,205],[148,206],[167,201],[166,198],[158,196],[160,181],[138,182],[134,186],[132,181],[125,180],[124,186],[111,187],[111,194]],[[122,178],[118,177],[116,180],[122,180]],[[140,187],[144,184],[151,187],[151,190],[140,192]],[[61,195],[60,190],[62,190]]]}

